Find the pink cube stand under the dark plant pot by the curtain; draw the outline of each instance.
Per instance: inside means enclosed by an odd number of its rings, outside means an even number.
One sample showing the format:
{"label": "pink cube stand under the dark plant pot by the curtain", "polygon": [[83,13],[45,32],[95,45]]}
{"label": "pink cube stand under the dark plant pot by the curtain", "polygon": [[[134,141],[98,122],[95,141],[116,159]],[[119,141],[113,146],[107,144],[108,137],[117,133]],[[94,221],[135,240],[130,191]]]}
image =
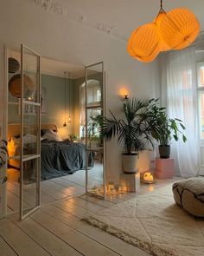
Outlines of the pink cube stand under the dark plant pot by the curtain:
{"label": "pink cube stand under the dark plant pot by the curtain", "polygon": [[174,159],[156,158],[156,178],[172,179],[175,174]]}

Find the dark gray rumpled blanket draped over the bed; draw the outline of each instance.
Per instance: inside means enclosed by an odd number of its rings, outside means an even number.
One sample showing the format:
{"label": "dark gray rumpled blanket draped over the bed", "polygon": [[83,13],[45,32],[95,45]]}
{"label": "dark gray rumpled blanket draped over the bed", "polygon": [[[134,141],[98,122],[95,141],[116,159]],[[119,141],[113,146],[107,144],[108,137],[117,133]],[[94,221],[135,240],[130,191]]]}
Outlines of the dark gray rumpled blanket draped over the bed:
{"label": "dark gray rumpled blanket draped over the bed", "polygon": [[[32,151],[35,145],[29,145]],[[94,164],[94,154],[88,155],[88,166]],[[35,161],[29,162],[29,166],[24,170],[25,180],[29,180],[35,170]],[[86,168],[86,146],[78,142],[69,141],[41,141],[41,181],[56,177],[73,174],[74,172]]]}

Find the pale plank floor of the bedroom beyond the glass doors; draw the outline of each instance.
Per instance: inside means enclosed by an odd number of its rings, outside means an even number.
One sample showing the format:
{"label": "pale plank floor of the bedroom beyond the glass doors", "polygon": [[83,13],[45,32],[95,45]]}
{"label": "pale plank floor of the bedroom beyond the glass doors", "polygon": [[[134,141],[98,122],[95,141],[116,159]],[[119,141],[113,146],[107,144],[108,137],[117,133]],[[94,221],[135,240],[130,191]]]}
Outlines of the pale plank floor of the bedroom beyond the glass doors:
{"label": "pale plank floor of the bedroom beyond the glass doors", "polygon": [[[41,181],[41,205],[70,198],[76,195],[85,194],[86,192],[86,172],[85,170],[77,171],[74,174],[54,178],[48,181]],[[95,163],[95,166],[89,170],[89,187],[99,186],[103,183],[102,165]],[[16,213],[19,211],[20,204],[20,185],[19,172],[15,169],[8,169],[7,181],[7,212]],[[23,186],[23,207],[24,209],[35,206],[35,184]]]}

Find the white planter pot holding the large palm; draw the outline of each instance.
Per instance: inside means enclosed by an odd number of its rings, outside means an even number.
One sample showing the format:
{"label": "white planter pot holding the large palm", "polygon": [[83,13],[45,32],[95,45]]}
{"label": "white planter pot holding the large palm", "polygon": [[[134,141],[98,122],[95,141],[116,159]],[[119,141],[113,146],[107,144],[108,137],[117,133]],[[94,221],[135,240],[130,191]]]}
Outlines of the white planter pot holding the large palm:
{"label": "white planter pot holding the large palm", "polygon": [[122,166],[124,174],[137,173],[138,154],[122,154]]}

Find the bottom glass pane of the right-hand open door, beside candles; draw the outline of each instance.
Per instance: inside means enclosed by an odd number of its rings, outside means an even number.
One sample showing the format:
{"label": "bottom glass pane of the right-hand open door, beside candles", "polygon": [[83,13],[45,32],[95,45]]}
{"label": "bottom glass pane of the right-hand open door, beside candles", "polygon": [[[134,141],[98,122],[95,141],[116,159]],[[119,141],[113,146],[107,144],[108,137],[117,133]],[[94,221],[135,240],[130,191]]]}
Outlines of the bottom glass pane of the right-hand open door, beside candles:
{"label": "bottom glass pane of the right-hand open door, beside candles", "polygon": [[87,191],[103,196],[104,194],[104,149],[87,151],[89,167],[87,170]]}

